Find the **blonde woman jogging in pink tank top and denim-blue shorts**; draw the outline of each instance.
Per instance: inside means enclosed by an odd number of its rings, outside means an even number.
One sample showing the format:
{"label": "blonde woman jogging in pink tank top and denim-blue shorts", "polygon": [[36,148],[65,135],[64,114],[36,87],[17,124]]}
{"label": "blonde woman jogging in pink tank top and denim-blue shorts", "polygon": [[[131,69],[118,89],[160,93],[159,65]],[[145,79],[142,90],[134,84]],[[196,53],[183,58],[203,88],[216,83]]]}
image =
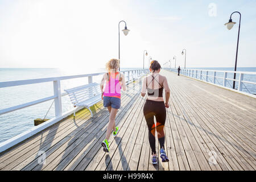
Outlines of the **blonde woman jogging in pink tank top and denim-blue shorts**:
{"label": "blonde woman jogging in pink tank top and denim-blue shorts", "polygon": [[[118,127],[115,127],[115,115],[121,106],[121,88],[123,91],[126,90],[125,85],[125,76],[122,73],[118,72],[119,60],[112,59],[106,63],[106,70],[108,73],[105,73],[101,80],[101,97],[103,100],[104,107],[108,107],[109,110],[109,124],[106,131],[106,138],[101,143],[103,150],[109,152],[109,138],[110,133],[113,130],[113,136],[117,135]],[[105,89],[103,92],[104,83],[106,81]]]}

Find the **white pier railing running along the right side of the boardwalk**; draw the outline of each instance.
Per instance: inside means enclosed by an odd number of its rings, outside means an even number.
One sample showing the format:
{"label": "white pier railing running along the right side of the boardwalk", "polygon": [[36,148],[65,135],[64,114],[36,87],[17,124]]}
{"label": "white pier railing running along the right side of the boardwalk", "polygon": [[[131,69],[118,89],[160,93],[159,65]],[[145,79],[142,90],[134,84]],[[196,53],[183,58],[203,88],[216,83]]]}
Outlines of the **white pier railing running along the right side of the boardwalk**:
{"label": "white pier railing running along the right side of the boardwalk", "polygon": [[[177,72],[177,70],[174,68],[166,68],[166,69],[168,69],[170,71]],[[203,72],[204,72],[204,74],[203,74]],[[211,73],[211,74],[209,75],[209,73]],[[223,77],[221,77],[219,75],[217,76],[216,73],[224,73],[224,75],[223,75]],[[238,79],[228,78],[227,77],[228,73],[236,73],[237,75],[239,75],[239,77],[238,77]],[[201,80],[201,81],[205,81],[205,82],[210,82],[211,84],[215,84],[215,85],[221,85],[225,88],[229,88],[229,86],[226,85],[228,80],[237,81],[238,88],[237,89],[232,88],[232,90],[238,90],[238,92],[240,92],[240,93],[244,92],[244,91],[242,91],[243,87],[247,89],[247,87],[245,86],[245,83],[256,85],[256,82],[243,80],[244,75],[256,75],[256,72],[222,71],[222,70],[209,70],[209,69],[180,69],[180,75],[192,77],[197,80]],[[203,76],[204,76],[204,78],[203,78]],[[213,79],[210,79],[210,78],[213,78]],[[222,79],[223,84],[221,84],[217,78]],[[229,84],[229,82],[228,82],[228,84]],[[249,89],[247,89],[247,91],[248,91],[248,93],[251,94]],[[245,92],[245,93],[247,93],[247,92]],[[254,96],[255,94],[251,94],[251,95],[253,97],[255,97]]]}

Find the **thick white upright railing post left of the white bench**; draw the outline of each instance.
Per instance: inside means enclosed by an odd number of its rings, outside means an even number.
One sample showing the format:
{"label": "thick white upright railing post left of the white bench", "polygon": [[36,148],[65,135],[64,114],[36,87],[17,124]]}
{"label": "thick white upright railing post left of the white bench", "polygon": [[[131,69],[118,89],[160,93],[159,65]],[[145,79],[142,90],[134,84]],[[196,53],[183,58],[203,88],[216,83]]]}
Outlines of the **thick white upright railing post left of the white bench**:
{"label": "thick white upright railing post left of the white bench", "polygon": [[57,98],[54,99],[55,105],[55,116],[58,117],[62,114],[62,105],[61,105],[61,92],[60,92],[60,80],[53,81],[53,92]]}

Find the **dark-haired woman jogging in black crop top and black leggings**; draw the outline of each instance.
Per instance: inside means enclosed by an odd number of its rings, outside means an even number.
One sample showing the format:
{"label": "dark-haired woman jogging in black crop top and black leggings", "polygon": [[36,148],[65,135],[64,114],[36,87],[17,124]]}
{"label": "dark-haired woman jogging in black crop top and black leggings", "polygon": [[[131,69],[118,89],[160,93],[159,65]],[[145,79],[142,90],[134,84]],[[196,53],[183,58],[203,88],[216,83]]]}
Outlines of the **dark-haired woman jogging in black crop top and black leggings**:
{"label": "dark-haired woman jogging in black crop top and black leggings", "polygon": [[[157,131],[158,141],[160,144],[160,157],[162,162],[168,162],[166,151],[164,151],[164,124],[166,122],[166,107],[169,107],[170,88],[166,77],[159,74],[160,64],[158,61],[151,61],[151,75],[143,80],[141,96],[144,97],[147,90],[147,99],[143,107],[144,117],[148,127],[148,140],[152,150],[152,164],[157,164],[155,149],[155,131]],[[166,102],[163,99],[163,89],[166,92]],[[156,118],[156,124],[154,122]]]}

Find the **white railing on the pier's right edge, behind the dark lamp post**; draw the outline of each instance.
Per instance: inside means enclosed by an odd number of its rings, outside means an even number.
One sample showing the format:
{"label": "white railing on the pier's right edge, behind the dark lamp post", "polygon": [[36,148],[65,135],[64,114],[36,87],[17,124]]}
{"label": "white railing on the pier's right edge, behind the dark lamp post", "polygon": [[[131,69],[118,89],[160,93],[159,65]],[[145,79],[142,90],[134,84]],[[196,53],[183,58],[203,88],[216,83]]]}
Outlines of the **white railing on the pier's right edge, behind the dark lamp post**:
{"label": "white railing on the pier's right edge, behind the dark lamp post", "polygon": [[[165,68],[172,72],[177,73],[177,69]],[[236,73],[236,79],[233,78]],[[207,69],[181,69],[180,75],[195,78],[197,80],[209,82],[214,85],[222,86],[224,88],[232,89],[240,93],[249,94],[249,96],[255,97],[256,82],[248,81],[245,78],[250,76],[256,80],[256,72],[241,72],[241,71],[220,71],[220,70],[207,70]],[[228,77],[229,75],[229,77]],[[238,77],[238,79],[237,79]],[[229,81],[232,81],[230,83]],[[233,81],[236,81],[236,88],[233,89]],[[238,82],[238,84],[237,84]],[[249,84],[250,86],[246,86]],[[251,88],[251,89],[250,89]]]}

